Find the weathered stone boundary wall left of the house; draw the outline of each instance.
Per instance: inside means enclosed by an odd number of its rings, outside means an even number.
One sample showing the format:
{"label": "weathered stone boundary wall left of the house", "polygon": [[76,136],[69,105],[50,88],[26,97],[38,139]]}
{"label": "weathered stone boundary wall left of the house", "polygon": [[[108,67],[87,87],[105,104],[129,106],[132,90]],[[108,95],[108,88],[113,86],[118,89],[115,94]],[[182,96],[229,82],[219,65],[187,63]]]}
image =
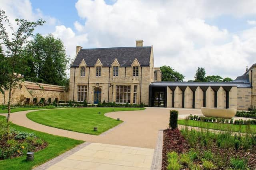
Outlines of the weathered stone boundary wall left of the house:
{"label": "weathered stone boundary wall left of the house", "polygon": [[[15,88],[12,89],[12,105],[24,104],[26,98],[30,99],[30,103],[33,102],[33,98],[37,98],[37,102],[41,98],[55,98],[58,100],[67,100],[67,92],[64,91],[64,86],[56,86],[52,84],[43,84],[35,82],[20,82]],[[0,104],[8,104],[9,90],[6,90],[4,94],[0,94]]]}

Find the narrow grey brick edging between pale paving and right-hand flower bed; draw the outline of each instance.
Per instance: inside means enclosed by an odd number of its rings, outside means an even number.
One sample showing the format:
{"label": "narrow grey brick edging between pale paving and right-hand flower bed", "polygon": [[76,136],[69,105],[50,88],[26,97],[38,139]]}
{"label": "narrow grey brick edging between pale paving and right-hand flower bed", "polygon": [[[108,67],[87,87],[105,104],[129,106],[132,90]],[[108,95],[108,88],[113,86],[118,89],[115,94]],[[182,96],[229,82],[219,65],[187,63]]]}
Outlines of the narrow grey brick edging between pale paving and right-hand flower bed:
{"label": "narrow grey brick edging between pale paving and right-hand flower bed", "polygon": [[154,151],[153,160],[152,160],[150,170],[161,170],[162,169],[163,138],[164,138],[164,130],[159,130],[156,148]]}

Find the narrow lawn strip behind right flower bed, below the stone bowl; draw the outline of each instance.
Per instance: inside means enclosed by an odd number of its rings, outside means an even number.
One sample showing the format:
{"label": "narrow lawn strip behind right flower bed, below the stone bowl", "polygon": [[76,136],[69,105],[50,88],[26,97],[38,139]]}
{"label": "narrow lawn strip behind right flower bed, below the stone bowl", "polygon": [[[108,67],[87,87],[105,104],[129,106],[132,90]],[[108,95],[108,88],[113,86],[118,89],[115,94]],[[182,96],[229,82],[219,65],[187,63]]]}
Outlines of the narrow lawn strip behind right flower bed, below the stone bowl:
{"label": "narrow lawn strip behind right flower bed, below the stone bowl", "polygon": [[[202,127],[208,129],[216,129],[222,131],[234,131],[234,132],[245,132],[246,125],[234,125],[234,124],[226,124],[226,123],[212,123],[212,122],[204,122],[204,121],[196,121],[196,120],[178,120],[179,125],[187,125],[192,127]],[[256,125],[250,125],[251,133],[256,133]]]}

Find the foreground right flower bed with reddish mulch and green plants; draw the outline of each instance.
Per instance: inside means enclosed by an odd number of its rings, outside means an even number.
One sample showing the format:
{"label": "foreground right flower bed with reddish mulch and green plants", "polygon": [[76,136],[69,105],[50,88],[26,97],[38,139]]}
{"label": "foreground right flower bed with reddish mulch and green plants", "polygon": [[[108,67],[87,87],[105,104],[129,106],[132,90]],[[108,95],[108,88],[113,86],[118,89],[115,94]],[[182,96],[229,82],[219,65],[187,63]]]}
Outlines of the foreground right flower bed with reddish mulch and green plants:
{"label": "foreground right flower bed with reddish mulch and green plants", "polygon": [[162,170],[256,169],[256,137],[165,130]]}

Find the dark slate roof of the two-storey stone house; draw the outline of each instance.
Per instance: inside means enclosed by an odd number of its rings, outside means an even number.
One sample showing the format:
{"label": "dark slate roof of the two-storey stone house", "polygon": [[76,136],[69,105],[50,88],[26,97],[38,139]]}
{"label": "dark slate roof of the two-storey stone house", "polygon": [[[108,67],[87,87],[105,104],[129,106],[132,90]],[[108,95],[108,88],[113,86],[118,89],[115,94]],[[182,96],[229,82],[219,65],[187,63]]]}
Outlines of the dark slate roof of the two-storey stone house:
{"label": "dark slate roof of the two-storey stone house", "polygon": [[94,66],[100,59],[103,66],[111,66],[115,59],[120,66],[131,66],[134,59],[137,59],[140,66],[149,66],[152,47],[115,47],[81,49],[71,67],[78,67],[82,59],[87,66]]}

